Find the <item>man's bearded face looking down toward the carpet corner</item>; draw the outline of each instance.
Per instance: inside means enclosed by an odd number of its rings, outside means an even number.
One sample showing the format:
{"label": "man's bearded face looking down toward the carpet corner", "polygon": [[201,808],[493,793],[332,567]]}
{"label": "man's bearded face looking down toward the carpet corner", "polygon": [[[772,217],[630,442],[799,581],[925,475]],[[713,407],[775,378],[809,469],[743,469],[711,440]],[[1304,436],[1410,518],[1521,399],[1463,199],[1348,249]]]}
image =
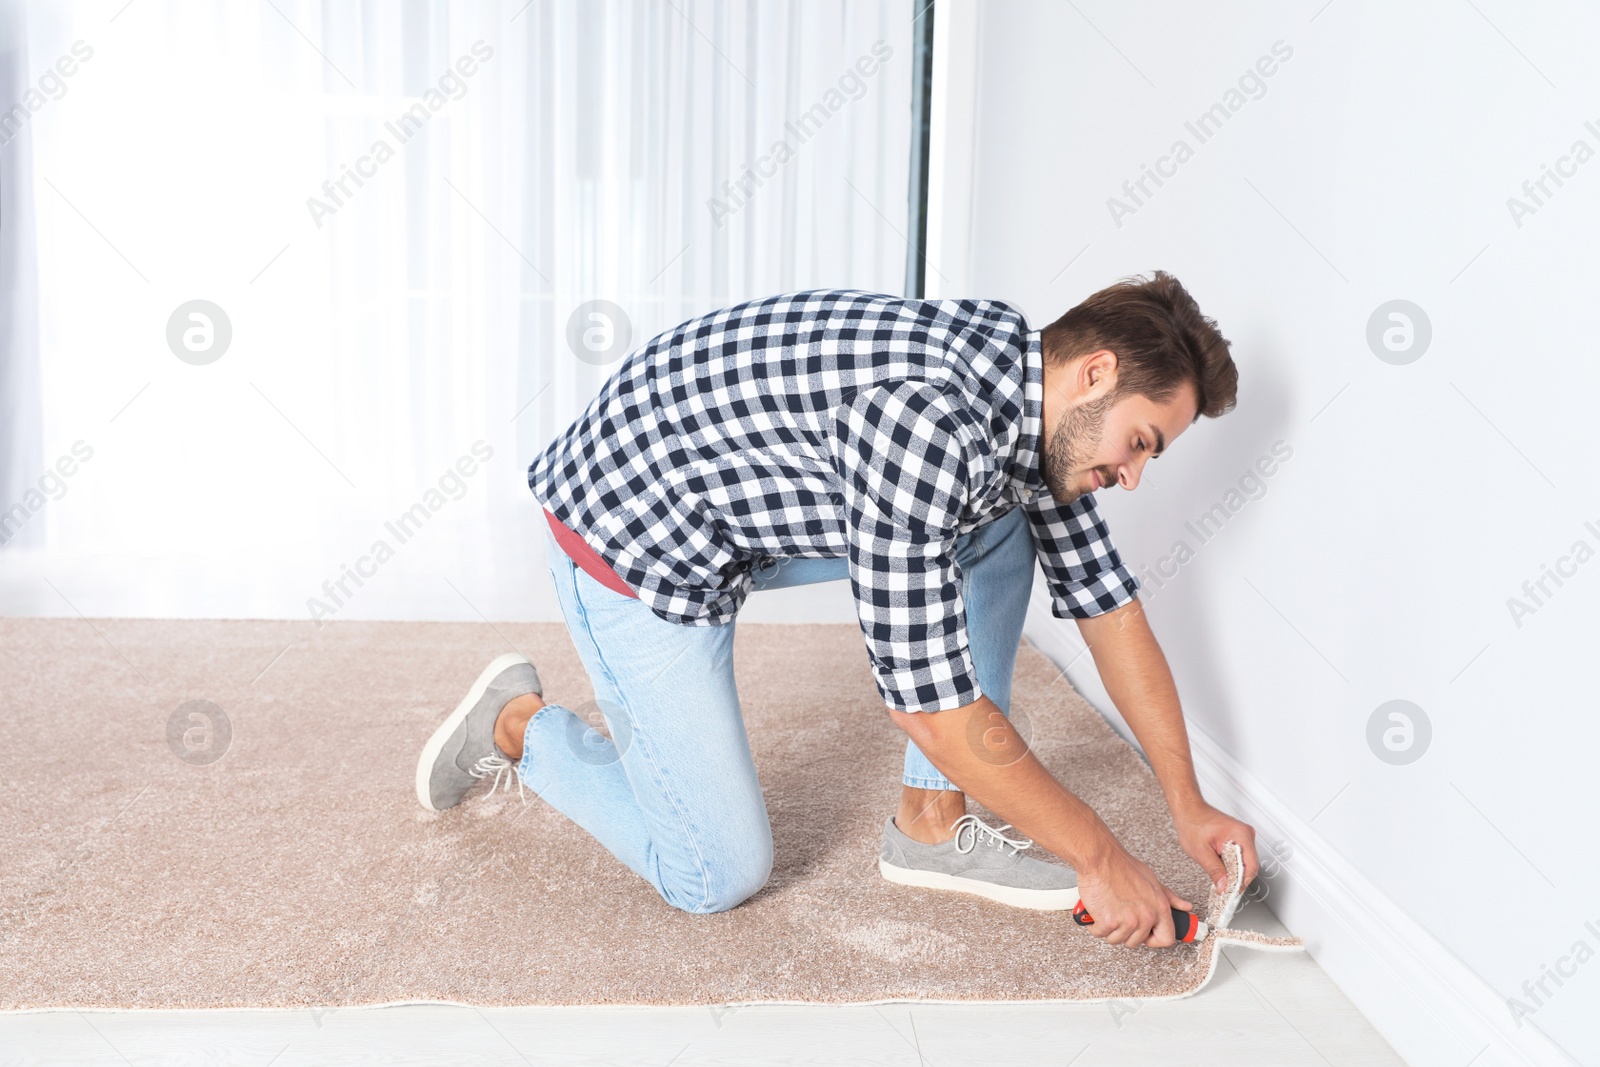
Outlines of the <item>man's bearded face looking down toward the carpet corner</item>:
{"label": "man's bearded face looking down toward the carpet corner", "polygon": [[1067,408],[1045,430],[1040,472],[1059,504],[1114,485],[1136,490],[1144,464],[1194,422],[1197,402],[1189,384],[1166,403],[1110,392]]}

